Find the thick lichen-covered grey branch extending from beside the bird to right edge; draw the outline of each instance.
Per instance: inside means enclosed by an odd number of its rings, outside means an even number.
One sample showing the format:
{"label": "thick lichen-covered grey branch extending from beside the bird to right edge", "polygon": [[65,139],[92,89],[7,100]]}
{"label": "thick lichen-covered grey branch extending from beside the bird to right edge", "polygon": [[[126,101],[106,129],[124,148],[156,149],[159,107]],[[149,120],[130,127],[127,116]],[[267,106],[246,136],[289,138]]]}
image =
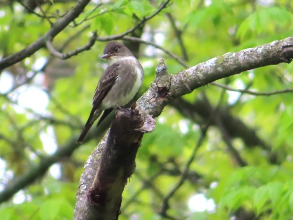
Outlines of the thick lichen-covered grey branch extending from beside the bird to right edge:
{"label": "thick lichen-covered grey branch extending from beside the bird to right edge", "polygon": [[158,116],[173,98],[192,92],[215,80],[261,66],[290,63],[293,58],[293,37],[263,44],[235,53],[227,53],[172,75],[168,95],[161,97],[152,83],[138,100],[137,106],[147,114]]}

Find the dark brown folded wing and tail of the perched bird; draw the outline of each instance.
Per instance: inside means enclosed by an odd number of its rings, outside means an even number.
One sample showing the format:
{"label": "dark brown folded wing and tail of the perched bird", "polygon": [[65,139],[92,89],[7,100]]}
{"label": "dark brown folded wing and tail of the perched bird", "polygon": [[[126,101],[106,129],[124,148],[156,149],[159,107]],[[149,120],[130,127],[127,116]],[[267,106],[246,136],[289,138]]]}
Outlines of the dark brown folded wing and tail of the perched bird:
{"label": "dark brown folded wing and tail of the perched bird", "polygon": [[[84,129],[83,129],[77,143],[82,143],[84,141],[85,135],[87,134],[89,129],[92,127],[95,120],[101,114],[101,112],[99,112],[99,114],[94,115],[95,111],[99,108],[99,106],[101,105],[103,99],[105,98],[105,96],[107,95],[109,90],[113,87],[113,85],[118,77],[118,73],[120,71],[119,66],[120,66],[119,64],[113,64],[111,66],[108,66],[105,70],[104,75],[101,77],[101,79],[98,83],[98,86],[95,90],[95,95],[93,98],[93,108],[90,111],[90,114],[89,114],[88,119],[85,123]],[[110,112],[111,112],[111,110],[109,112],[107,110],[107,114],[109,114]],[[102,117],[103,117],[103,115],[102,115]],[[103,117],[103,119],[105,118],[105,116]],[[101,122],[102,122],[102,120],[100,119],[99,123],[101,123]]]}

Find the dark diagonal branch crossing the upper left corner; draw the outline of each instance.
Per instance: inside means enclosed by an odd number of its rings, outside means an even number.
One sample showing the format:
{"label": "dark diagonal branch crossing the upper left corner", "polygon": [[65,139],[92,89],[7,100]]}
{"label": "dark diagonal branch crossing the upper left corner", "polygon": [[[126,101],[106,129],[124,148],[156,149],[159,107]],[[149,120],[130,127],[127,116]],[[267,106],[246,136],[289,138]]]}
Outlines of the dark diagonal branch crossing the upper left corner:
{"label": "dark diagonal branch crossing the upper left corner", "polygon": [[24,58],[31,56],[36,51],[44,47],[46,41],[54,39],[57,34],[59,34],[70,22],[76,19],[83,12],[84,7],[89,1],[90,0],[78,0],[76,5],[66,15],[64,15],[63,18],[59,19],[47,33],[42,35],[42,37],[21,51],[0,60],[0,70],[20,62]]}

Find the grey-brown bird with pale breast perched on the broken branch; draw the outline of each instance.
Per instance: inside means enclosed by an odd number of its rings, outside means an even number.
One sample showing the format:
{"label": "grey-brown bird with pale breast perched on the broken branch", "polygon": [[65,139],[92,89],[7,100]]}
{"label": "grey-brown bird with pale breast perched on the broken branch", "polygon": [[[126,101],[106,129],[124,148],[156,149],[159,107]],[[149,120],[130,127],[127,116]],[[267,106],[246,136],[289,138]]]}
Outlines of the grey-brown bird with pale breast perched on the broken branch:
{"label": "grey-brown bird with pale breast perched on the broken branch", "polygon": [[109,42],[102,58],[108,60],[108,67],[98,82],[92,100],[92,110],[77,143],[84,141],[87,132],[103,111],[97,126],[113,109],[121,109],[129,103],[143,82],[143,66],[124,44]]}

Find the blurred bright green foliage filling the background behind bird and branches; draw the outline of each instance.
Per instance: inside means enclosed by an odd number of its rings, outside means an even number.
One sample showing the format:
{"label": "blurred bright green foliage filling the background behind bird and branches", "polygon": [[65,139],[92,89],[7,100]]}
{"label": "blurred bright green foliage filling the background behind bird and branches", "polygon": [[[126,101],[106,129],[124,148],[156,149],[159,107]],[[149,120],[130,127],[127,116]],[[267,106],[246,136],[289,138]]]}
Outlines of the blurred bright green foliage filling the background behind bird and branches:
{"label": "blurred bright green foliage filling the background behind bird and branches", "polygon": [[[53,45],[67,52],[86,44],[94,30],[102,37],[123,33],[138,19],[154,13],[161,2],[105,0],[99,7],[91,2],[75,22],[56,36]],[[51,23],[74,5],[74,1],[40,3],[31,9],[34,13],[22,4],[25,1],[0,1],[1,57],[23,49],[42,36]],[[178,57],[183,57],[183,48],[165,13],[171,15],[179,30],[189,66],[227,52],[284,39],[293,33],[291,0],[172,0],[159,15],[146,22],[142,38],[162,45]],[[98,79],[106,67],[101,59],[105,44],[97,42],[91,50],[65,61],[58,60],[42,48],[2,71],[1,190],[5,190],[11,179],[14,181],[14,177],[48,156],[50,144],[51,148],[56,145],[61,148],[70,140],[77,139],[90,111]],[[138,54],[145,69],[140,94],[154,79],[154,68],[159,59],[164,58],[170,74],[184,68],[150,45],[141,44]],[[44,68],[40,67],[41,63]],[[281,90],[292,88],[292,70],[293,64],[266,66],[218,82],[259,92]],[[12,80],[7,80],[7,77]],[[6,88],[9,84],[11,86]],[[45,92],[48,105],[43,109],[40,107],[43,99],[40,100],[38,92],[28,93],[31,87]],[[251,148],[243,139],[230,137],[235,150],[247,162],[247,166],[241,167],[222,138],[221,128],[210,126],[184,184],[169,200],[168,215],[178,219],[226,220],[240,219],[239,210],[246,210],[246,213],[262,220],[291,219],[293,95],[252,96],[206,86],[184,96],[184,100],[193,104],[203,98],[203,93],[213,108],[227,108],[228,113],[256,130],[258,138],[272,151],[260,146]],[[35,99],[34,106],[42,110],[23,104],[23,94],[30,94],[29,98],[25,96],[26,100]],[[199,115],[191,118],[174,107],[165,108],[157,118],[155,131],[143,138],[137,154],[136,171],[123,194],[121,220],[162,219],[159,212],[163,199],[181,177],[204,121]],[[49,132],[52,129],[53,134]],[[42,138],[44,135],[49,138]],[[83,164],[98,142],[99,139],[93,139],[70,157],[63,158],[58,163],[61,176],[54,175],[56,171],[50,169],[41,175],[42,178],[2,203],[1,220],[71,219]],[[276,158],[273,163],[270,160],[272,154]],[[214,206],[200,210],[198,206],[207,200],[188,203],[189,198],[198,194],[211,199]]]}

